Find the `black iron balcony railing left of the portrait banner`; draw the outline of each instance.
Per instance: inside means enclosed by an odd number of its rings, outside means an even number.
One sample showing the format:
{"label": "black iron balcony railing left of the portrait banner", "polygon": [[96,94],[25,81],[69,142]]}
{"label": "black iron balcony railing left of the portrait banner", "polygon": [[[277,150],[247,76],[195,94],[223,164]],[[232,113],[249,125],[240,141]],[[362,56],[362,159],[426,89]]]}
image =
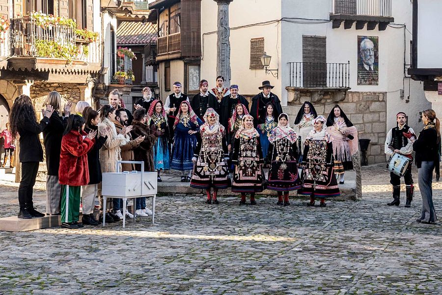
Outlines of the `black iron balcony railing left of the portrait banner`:
{"label": "black iron balcony railing left of the portrait banner", "polygon": [[350,61],[289,62],[290,87],[350,88]]}

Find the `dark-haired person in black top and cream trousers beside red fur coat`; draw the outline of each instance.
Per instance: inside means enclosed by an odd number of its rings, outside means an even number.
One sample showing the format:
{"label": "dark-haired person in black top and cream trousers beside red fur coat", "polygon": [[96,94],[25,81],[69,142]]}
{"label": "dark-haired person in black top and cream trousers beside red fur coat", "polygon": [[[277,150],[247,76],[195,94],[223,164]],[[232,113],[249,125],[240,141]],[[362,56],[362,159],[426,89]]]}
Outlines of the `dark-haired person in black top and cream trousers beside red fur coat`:
{"label": "dark-haired person in black top and cream trousers beside red fur coat", "polygon": [[[92,131],[98,131],[98,119],[99,114],[91,107],[87,107],[83,110],[83,118],[85,122],[84,131],[86,133]],[[108,139],[106,137],[99,136],[98,132],[95,136],[94,146],[87,152],[87,167],[89,169],[89,183],[82,186],[82,204],[83,204],[83,224],[99,225],[99,222],[95,219],[94,202],[98,193],[98,184],[102,180],[101,165],[100,165],[100,149]],[[108,222],[113,222],[112,218],[108,219]]]}

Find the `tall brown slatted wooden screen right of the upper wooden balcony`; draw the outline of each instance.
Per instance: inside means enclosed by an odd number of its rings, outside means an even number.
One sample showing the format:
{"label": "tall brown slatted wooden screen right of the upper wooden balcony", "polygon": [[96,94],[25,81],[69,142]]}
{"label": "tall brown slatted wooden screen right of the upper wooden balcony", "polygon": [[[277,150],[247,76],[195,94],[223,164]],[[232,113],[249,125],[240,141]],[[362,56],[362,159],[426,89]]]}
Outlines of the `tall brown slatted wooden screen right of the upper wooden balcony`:
{"label": "tall brown slatted wooden screen right of the upper wooden balcony", "polygon": [[201,57],[201,0],[181,0],[181,56]]}

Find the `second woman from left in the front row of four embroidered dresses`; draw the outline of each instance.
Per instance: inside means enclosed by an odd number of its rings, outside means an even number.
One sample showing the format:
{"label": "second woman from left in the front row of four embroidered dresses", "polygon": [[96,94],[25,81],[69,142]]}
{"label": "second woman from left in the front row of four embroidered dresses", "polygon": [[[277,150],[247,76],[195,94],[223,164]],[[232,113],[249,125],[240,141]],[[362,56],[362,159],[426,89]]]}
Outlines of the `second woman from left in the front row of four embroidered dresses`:
{"label": "second woman from left in the front row of four embroidered dresses", "polygon": [[253,128],[253,117],[244,115],[232,153],[232,164],[235,165],[232,192],[241,193],[240,205],[246,204],[247,193],[250,193],[250,205],[256,205],[255,193],[264,190],[266,178],[262,163],[262,148],[258,131]]}

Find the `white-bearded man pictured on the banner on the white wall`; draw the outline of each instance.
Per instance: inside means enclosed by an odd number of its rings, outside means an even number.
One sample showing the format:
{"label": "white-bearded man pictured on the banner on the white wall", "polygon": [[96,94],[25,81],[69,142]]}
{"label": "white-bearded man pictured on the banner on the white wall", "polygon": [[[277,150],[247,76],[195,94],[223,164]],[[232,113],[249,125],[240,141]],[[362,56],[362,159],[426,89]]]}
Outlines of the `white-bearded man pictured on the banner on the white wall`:
{"label": "white-bearded man pictured on the banner on the white wall", "polygon": [[368,38],[360,42],[360,57],[362,62],[358,65],[358,82],[362,85],[373,85],[378,79],[378,65],[375,64],[375,50],[373,41]]}

